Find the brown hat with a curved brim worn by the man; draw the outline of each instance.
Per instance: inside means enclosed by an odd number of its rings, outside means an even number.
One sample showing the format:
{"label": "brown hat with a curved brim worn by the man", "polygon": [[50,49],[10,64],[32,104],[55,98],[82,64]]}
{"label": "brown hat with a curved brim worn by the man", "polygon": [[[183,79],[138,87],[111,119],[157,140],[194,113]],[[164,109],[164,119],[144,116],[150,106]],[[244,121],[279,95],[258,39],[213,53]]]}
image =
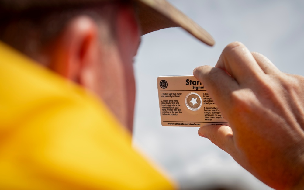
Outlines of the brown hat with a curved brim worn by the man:
{"label": "brown hat with a curved brim worn by the man", "polygon": [[[111,0],[0,0],[0,8],[12,11],[22,11],[33,7],[51,7],[69,4],[89,4]],[[198,40],[209,46],[214,40],[185,14],[176,9],[166,0],[133,0],[138,3],[138,16],[142,34],[156,30],[180,26]]]}

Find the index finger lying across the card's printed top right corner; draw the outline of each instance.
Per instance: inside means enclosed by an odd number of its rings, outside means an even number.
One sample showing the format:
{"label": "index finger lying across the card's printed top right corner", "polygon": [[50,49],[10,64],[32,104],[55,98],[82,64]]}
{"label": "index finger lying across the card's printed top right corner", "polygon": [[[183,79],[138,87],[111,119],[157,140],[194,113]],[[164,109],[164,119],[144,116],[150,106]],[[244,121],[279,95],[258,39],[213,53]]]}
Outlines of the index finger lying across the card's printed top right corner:
{"label": "index finger lying across the card's printed top right corner", "polygon": [[197,67],[194,69],[193,75],[205,86],[221,112],[229,113],[232,106],[231,93],[240,88],[237,81],[224,70],[211,66]]}

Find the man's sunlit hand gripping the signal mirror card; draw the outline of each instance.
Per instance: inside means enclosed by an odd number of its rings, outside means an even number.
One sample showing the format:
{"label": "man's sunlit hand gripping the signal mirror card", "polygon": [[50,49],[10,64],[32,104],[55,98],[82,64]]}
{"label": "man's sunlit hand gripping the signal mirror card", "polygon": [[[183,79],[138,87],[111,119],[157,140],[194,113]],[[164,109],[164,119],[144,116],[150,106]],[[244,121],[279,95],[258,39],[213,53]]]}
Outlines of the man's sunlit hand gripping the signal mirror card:
{"label": "man's sunlit hand gripping the signal mirror card", "polygon": [[202,127],[199,135],[270,187],[303,189],[304,77],[279,71],[239,42],[223,50],[215,67],[193,74],[230,123]]}

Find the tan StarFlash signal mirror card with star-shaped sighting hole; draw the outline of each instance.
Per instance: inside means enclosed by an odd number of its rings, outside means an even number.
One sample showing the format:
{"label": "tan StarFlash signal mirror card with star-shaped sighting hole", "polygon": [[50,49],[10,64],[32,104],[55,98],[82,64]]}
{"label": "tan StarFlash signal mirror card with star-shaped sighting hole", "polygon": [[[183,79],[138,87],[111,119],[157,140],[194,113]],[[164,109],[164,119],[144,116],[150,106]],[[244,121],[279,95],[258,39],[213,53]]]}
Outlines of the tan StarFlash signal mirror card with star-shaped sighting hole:
{"label": "tan StarFlash signal mirror card with star-shaped sighting hole", "polygon": [[204,85],[194,76],[157,77],[162,126],[228,125]]}

